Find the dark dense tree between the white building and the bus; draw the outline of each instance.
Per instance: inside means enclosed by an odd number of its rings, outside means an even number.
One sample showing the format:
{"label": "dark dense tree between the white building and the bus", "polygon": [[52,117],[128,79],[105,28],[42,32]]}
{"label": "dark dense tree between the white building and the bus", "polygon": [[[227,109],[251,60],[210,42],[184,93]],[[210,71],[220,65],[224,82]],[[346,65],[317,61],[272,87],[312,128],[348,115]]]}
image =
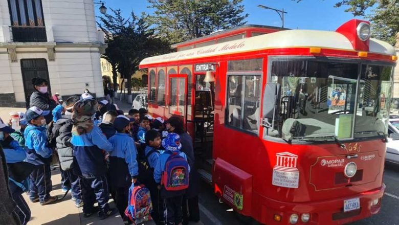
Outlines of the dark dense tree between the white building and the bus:
{"label": "dark dense tree between the white building and the bus", "polygon": [[[131,94],[131,75],[139,69],[144,58],[171,52],[170,45],[154,35],[147,24],[147,15],[137,17],[133,12],[125,19],[121,10],[111,9],[114,15],[100,17],[98,26],[105,33],[108,48],[105,56],[115,63],[116,72],[126,79],[127,94]],[[112,64],[112,62],[110,62]],[[113,67],[114,73],[114,67]],[[115,76],[116,73],[114,73]]]}

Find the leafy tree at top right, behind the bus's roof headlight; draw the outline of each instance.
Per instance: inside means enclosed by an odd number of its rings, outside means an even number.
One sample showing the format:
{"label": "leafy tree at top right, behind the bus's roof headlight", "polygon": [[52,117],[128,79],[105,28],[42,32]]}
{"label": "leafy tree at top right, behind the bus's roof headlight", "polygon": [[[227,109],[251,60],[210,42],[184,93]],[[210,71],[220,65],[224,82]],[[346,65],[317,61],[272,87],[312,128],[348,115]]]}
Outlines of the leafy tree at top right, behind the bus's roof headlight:
{"label": "leafy tree at top right, behind the bus's roof headlight", "polygon": [[[335,7],[342,6],[348,6],[345,12],[353,16],[369,19],[373,37],[395,44],[399,32],[399,0],[341,0],[335,4]],[[366,13],[368,9],[371,9],[369,14]]]}

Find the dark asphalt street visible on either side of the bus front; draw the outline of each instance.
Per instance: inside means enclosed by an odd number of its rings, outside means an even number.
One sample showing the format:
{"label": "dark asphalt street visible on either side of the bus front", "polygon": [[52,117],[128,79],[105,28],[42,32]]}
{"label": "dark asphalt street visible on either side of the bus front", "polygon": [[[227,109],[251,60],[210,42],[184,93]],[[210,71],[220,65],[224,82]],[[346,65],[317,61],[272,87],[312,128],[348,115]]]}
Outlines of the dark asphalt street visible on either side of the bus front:
{"label": "dark asphalt street visible on either side of the bus front", "polygon": [[[399,224],[399,165],[387,163],[385,165],[384,183],[386,184],[386,194],[382,200],[382,209],[379,214],[350,223],[351,225],[396,225]],[[231,225],[251,225],[257,224],[253,220],[240,221],[234,212],[225,204],[219,204],[216,196],[208,184],[202,182],[200,195],[201,220],[204,224],[231,224]]]}

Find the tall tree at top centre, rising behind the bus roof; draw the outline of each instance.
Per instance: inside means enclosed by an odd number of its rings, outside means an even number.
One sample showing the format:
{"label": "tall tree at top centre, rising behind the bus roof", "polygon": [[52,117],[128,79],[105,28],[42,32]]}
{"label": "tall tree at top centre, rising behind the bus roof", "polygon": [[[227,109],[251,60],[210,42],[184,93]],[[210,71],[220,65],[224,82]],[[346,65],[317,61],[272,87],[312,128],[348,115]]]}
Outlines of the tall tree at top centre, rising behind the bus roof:
{"label": "tall tree at top centre, rising behind the bus roof", "polygon": [[158,34],[171,43],[246,24],[242,0],[148,0]]}

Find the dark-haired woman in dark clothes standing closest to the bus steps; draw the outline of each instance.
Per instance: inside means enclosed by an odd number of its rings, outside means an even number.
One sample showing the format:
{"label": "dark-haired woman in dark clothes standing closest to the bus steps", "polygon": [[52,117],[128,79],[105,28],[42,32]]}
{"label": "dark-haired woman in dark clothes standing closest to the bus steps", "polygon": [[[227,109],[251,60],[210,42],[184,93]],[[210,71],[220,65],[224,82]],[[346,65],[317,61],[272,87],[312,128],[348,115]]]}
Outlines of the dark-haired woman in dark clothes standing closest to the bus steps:
{"label": "dark-haired woman in dark clothes standing closest to the bus steps", "polygon": [[[183,225],[188,221],[200,221],[200,209],[198,208],[198,194],[200,193],[200,177],[195,169],[194,148],[191,136],[184,130],[183,120],[180,117],[171,117],[166,121],[168,132],[179,134],[182,152],[187,155],[190,165],[190,181],[186,194],[183,197]],[[188,209],[188,211],[187,211]]]}

